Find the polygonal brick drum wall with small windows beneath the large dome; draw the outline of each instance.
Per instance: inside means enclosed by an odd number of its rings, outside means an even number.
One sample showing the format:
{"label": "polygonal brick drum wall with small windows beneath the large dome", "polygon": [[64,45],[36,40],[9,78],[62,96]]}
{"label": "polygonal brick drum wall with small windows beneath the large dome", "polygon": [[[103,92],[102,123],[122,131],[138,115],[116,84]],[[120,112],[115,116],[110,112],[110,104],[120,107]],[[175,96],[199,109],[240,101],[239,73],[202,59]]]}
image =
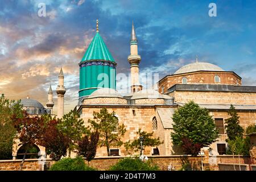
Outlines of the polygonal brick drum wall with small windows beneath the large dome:
{"label": "polygonal brick drum wall with small windows beneath the large dome", "polygon": [[[214,76],[220,77],[220,82],[214,81]],[[162,93],[162,86],[164,93],[167,93],[168,88],[175,84],[182,84],[182,78],[187,78],[187,84],[227,84],[227,85],[241,85],[241,78],[237,77],[233,72],[195,72],[184,73],[179,75],[170,75],[159,81],[159,92]]]}

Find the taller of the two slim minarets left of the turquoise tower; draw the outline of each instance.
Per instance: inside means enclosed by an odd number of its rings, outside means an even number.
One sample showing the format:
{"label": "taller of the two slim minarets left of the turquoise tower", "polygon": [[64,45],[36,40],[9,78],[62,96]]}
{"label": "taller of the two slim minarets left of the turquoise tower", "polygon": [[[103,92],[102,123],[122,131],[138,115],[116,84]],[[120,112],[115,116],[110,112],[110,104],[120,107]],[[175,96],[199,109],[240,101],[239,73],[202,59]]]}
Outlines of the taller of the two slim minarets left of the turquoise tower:
{"label": "taller of the two slim minarets left of the turquoise tower", "polygon": [[64,114],[64,94],[66,89],[64,87],[64,75],[62,68],[60,68],[59,74],[59,85],[57,86],[56,93],[58,96],[58,110],[57,110],[57,118],[62,118]]}

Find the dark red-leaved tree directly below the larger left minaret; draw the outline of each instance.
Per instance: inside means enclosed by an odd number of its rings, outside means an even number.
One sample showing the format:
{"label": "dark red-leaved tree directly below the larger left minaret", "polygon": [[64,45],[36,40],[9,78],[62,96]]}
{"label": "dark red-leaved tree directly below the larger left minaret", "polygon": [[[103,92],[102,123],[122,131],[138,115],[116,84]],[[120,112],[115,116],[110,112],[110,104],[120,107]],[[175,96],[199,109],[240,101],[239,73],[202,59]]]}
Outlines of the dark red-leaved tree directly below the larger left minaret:
{"label": "dark red-leaved tree directly below the larger left minaret", "polygon": [[39,144],[46,147],[47,154],[49,154],[55,161],[58,161],[62,156],[67,155],[67,150],[70,144],[69,138],[57,128],[59,122],[60,120],[57,120],[56,118],[45,121],[44,130],[39,140]]}

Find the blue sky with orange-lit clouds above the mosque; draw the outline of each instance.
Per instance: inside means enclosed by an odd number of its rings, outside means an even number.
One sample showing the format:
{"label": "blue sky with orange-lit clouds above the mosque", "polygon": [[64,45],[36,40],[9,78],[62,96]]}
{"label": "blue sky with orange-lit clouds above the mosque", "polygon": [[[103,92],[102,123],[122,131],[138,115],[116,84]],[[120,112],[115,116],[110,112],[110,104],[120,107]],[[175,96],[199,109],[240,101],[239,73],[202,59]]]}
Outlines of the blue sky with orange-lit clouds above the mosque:
{"label": "blue sky with orange-lit clouds above the mosque", "polygon": [[[40,3],[46,5],[46,16],[38,13]],[[217,16],[209,16],[210,3],[216,4]],[[57,76],[63,67],[68,113],[78,101],[78,64],[96,34],[96,19],[117,73],[130,71],[133,20],[141,75],[162,78],[198,55],[199,61],[236,72],[242,85],[256,86],[255,17],[254,0],[2,0],[0,93],[14,100],[29,95],[45,106],[51,84],[56,114]]]}

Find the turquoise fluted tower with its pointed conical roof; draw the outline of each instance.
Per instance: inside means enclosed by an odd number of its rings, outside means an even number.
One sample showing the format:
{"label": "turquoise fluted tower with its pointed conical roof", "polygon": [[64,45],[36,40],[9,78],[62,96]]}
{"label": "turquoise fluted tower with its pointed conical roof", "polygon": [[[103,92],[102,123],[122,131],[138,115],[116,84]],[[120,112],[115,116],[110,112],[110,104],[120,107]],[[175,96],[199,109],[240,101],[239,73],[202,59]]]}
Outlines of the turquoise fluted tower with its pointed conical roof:
{"label": "turquoise fluted tower with its pointed conical roof", "polygon": [[96,32],[92,42],[79,63],[79,100],[97,89],[115,89],[115,63],[100,34]]}

